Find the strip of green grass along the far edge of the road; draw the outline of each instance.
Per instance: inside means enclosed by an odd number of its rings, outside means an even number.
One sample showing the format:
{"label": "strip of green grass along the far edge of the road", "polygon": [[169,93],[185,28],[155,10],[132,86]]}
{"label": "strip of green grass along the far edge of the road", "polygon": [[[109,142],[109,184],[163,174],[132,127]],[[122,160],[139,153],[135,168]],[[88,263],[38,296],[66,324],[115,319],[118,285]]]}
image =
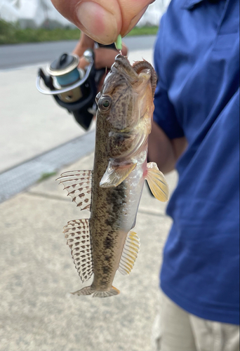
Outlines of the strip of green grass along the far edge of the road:
{"label": "strip of green grass along the far edge of the road", "polygon": [[[135,27],[128,34],[132,35],[153,35],[156,34],[158,27]],[[56,29],[21,29],[18,25],[13,25],[4,20],[0,20],[0,45],[37,43],[42,41],[58,40],[78,40],[80,37],[79,29],[56,28]]]}

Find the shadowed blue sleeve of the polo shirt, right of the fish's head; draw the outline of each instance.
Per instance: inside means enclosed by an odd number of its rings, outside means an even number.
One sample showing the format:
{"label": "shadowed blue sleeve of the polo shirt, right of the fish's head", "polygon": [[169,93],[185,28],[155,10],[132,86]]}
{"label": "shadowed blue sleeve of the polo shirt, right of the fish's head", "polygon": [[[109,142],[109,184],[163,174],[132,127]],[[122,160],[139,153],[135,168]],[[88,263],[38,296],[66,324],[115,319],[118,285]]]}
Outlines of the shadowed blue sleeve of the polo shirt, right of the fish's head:
{"label": "shadowed blue sleeve of the polo shirt, right of the fish's head", "polygon": [[161,52],[164,50],[164,17],[165,15],[161,19],[154,50],[154,67],[158,78],[154,97],[154,121],[164,130],[168,138],[174,139],[184,136],[184,132],[168,98],[168,88],[164,79],[164,58]]}

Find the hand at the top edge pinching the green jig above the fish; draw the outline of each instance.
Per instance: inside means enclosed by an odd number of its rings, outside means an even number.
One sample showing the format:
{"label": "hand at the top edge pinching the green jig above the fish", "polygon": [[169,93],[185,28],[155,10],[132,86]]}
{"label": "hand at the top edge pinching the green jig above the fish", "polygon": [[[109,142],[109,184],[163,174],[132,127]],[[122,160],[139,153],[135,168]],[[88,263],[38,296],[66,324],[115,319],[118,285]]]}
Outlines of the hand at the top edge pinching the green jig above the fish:
{"label": "hand at the top edge pinching the green jig above the fish", "polygon": [[112,44],[135,27],[154,0],[51,0],[55,8],[95,41]]}

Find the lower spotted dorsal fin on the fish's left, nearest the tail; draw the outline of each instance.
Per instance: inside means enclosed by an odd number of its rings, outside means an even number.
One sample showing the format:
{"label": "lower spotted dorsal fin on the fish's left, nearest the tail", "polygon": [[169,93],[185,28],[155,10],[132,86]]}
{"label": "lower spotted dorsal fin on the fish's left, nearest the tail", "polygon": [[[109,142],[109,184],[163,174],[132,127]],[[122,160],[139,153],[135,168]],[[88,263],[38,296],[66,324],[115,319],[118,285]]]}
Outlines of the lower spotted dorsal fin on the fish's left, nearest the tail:
{"label": "lower spotted dorsal fin on the fish's left, nearest the tail", "polygon": [[76,270],[81,281],[85,282],[93,274],[89,220],[70,220],[63,229]]}

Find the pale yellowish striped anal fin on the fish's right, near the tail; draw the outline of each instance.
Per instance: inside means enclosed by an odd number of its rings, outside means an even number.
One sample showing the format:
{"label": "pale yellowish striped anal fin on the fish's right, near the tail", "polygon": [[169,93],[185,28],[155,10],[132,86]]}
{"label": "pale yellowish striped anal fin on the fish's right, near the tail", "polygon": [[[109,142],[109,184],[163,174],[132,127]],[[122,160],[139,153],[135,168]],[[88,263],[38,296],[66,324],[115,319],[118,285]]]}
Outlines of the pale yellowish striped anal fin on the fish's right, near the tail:
{"label": "pale yellowish striped anal fin on the fish's right, near the tail", "polygon": [[119,263],[119,272],[127,275],[131,273],[135,260],[138,257],[140,240],[135,232],[129,232],[124,245],[124,250]]}

